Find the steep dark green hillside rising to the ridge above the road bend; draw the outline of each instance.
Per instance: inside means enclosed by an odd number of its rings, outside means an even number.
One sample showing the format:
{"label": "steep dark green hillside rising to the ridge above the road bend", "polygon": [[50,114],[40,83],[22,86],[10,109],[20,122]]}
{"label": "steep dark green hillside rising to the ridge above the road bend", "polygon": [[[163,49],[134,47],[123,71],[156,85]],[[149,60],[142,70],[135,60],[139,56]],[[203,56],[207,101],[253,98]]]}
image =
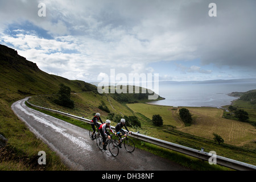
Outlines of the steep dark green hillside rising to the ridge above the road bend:
{"label": "steep dark green hillside rising to the ridge above the road bend", "polygon": [[0,98],[12,101],[20,96],[54,94],[59,84],[73,92],[97,90],[96,86],[79,80],[68,80],[41,71],[35,63],[19,56],[14,49],[0,44]]}

